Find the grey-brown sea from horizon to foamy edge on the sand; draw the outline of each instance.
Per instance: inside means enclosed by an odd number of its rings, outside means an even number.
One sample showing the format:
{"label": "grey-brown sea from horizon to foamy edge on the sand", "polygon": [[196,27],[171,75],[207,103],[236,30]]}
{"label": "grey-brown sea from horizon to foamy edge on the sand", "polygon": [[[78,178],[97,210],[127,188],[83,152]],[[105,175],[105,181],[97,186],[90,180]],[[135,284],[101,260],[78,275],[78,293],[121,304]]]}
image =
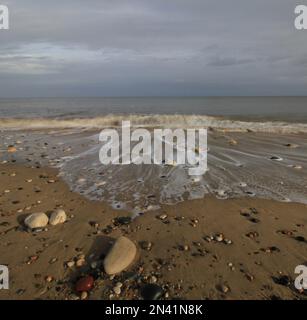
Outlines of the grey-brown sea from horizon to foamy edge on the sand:
{"label": "grey-brown sea from horizon to foamy edge on the sand", "polygon": [[[209,129],[208,171],[102,165],[99,132],[123,120]],[[0,162],[58,168],[73,191],[135,214],[207,195],[307,203],[307,97],[0,99],[0,134]]]}

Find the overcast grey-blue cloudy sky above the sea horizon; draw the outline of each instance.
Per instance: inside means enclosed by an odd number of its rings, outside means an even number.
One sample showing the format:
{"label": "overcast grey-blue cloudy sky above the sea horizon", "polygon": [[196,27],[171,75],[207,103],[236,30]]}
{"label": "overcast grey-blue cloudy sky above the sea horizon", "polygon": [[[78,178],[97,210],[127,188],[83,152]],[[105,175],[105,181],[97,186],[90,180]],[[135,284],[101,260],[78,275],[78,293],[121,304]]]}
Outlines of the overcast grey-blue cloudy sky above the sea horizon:
{"label": "overcast grey-blue cloudy sky above the sea horizon", "polygon": [[307,95],[297,0],[0,3],[0,97]]}

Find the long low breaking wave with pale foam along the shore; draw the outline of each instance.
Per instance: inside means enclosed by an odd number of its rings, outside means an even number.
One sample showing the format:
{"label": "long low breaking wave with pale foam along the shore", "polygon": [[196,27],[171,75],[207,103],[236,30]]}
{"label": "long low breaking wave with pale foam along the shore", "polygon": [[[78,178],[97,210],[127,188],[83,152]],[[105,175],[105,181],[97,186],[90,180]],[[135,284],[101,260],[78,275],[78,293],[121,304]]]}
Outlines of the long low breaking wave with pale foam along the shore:
{"label": "long low breaking wave with pale foam along the shore", "polygon": [[211,128],[231,132],[268,132],[268,133],[307,133],[306,123],[288,123],[280,121],[239,121],[222,117],[204,115],[106,115],[96,118],[0,118],[2,130],[34,130],[34,129],[102,129],[119,127],[123,120],[129,120],[133,127],[180,127]]}

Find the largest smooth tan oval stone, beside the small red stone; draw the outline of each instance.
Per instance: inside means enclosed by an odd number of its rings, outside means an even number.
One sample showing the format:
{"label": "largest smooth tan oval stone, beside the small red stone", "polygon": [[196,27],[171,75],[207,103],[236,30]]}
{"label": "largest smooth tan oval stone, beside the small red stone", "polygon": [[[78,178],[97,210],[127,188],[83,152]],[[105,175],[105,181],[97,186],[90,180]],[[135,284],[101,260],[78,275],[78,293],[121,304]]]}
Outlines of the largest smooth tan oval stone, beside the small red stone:
{"label": "largest smooth tan oval stone, beside the small red stone", "polygon": [[104,269],[109,275],[126,269],[136,256],[135,244],[126,237],[119,237],[104,259]]}

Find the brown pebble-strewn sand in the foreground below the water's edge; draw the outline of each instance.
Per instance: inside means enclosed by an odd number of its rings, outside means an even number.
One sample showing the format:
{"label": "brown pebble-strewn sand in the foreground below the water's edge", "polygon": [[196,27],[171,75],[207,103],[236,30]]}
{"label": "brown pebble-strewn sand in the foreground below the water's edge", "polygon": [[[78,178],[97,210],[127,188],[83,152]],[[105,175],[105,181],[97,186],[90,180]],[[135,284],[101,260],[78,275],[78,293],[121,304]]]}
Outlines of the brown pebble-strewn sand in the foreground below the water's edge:
{"label": "brown pebble-strewn sand in the foreground below the water's edge", "polygon": [[[27,215],[56,208],[67,213],[64,224],[27,231]],[[140,299],[147,283],[161,287],[162,299],[306,298],[294,288],[294,269],[307,262],[305,204],[206,196],[116,220],[130,214],[71,192],[55,169],[0,165],[0,264],[10,270],[0,299],[79,299],[75,283],[88,274],[87,299]],[[106,243],[120,235],[138,254],[110,277]],[[82,255],[85,265],[67,266]]]}

